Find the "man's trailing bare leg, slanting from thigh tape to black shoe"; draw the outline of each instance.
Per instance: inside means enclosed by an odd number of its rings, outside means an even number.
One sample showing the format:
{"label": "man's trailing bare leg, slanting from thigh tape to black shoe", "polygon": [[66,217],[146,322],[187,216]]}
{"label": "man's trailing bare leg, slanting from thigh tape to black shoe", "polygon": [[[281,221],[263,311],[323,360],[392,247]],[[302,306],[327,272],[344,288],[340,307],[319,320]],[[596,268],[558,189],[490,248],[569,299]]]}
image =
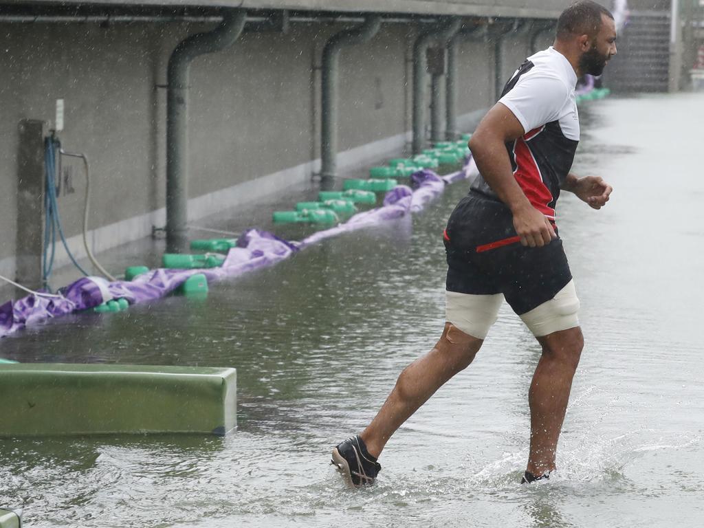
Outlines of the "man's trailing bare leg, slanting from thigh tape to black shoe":
{"label": "man's trailing bare leg, slanting from thigh tape to black shoe", "polygon": [[483,342],[446,322],[432,351],[401,372],[379,413],[360,434],[370,455],[378,457],[396,429],[448,379],[472,363]]}

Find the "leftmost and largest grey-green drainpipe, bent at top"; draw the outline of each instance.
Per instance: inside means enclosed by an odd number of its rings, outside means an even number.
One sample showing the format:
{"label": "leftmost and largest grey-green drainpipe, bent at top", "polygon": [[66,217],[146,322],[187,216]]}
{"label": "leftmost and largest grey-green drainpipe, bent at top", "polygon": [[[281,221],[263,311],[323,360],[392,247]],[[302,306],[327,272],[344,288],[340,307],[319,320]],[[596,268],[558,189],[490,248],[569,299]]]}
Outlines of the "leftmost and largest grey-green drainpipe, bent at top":
{"label": "leftmost and largest grey-green drainpipe, bent at top", "polygon": [[210,32],[184,39],[169,58],[166,99],[166,247],[179,253],[188,221],[188,83],[189,65],[199,55],[222,51],[244,29],[246,11],[228,10]]}

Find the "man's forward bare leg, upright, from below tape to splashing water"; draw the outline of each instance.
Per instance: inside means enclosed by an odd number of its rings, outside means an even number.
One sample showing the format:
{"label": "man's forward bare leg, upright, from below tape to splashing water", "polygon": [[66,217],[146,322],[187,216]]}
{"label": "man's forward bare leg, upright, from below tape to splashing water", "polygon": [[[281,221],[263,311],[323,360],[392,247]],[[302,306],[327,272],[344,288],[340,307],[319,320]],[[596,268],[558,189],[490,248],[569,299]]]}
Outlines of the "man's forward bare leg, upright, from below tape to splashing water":
{"label": "man's forward bare leg, upright, from below tape to splashing water", "polygon": [[539,477],[555,469],[555,451],[584,337],[582,329],[575,327],[537,339],[543,355],[528,392],[531,435],[527,470]]}

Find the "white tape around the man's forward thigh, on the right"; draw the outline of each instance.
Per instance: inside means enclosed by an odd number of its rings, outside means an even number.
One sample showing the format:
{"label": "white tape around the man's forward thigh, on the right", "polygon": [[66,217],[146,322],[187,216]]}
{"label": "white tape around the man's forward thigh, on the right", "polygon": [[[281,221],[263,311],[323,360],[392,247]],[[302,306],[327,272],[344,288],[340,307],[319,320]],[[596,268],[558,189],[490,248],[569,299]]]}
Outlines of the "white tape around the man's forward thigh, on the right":
{"label": "white tape around the man's forward thigh, on the right", "polygon": [[520,316],[535,337],[579,326],[579,298],[571,280],[550,299]]}

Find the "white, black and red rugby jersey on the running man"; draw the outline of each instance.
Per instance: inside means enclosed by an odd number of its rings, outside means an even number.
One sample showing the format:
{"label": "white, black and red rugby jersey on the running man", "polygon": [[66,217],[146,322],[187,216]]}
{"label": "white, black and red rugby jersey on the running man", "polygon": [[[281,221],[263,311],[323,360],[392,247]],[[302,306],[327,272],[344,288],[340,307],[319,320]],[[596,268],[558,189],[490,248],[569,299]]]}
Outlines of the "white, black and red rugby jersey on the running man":
{"label": "white, black and red rugby jersey on the running man", "polygon": [[[526,59],[498,100],[525,131],[506,144],[516,181],[530,203],[552,220],[579,143],[576,85],[572,65],[551,46]],[[498,200],[481,174],[470,189]]]}

